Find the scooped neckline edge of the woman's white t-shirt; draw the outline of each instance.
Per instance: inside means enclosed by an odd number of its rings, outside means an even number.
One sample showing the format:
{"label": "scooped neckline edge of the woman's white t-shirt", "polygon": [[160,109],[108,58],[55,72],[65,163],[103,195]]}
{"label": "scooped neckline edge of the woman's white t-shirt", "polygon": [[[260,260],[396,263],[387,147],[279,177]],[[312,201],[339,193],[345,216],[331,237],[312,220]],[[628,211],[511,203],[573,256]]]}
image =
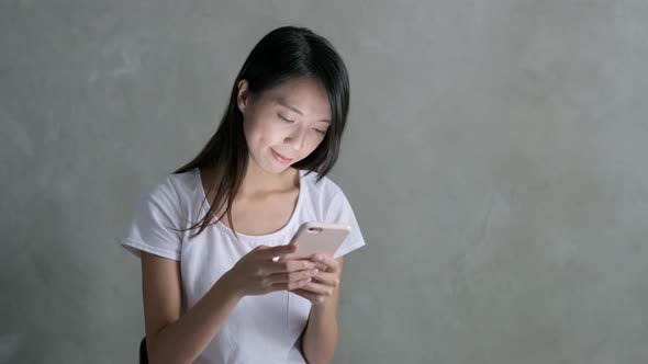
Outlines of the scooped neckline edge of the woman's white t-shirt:
{"label": "scooped neckline edge of the woman's white t-shirt", "polygon": [[[290,219],[288,220],[288,223],[286,225],[283,225],[283,227],[281,227],[279,230],[270,232],[270,234],[265,234],[265,235],[247,235],[247,234],[243,234],[243,232],[236,232],[236,235],[238,236],[239,240],[243,243],[247,243],[247,244],[252,244],[252,246],[254,246],[255,243],[269,242],[269,241],[288,243],[288,241],[283,242],[283,241],[276,241],[276,240],[278,240],[280,237],[284,236],[286,232],[292,228],[292,226],[295,224],[295,220],[299,218],[299,213],[300,213],[302,205],[303,205],[303,200],[305,196],[305,189],[306,189],[306,183],[304,183],[303,177],[306,171],[304,171],[304,170],[298,170],[298,171],[299,171],[299,194],[297,197],[297,204],[294,206],[294,209],[293,209],[292,215],[290,216]],[[201,179],[201,174],[200,174],[200,168],[194,169],[194,177],[195,177],[195,184],[197,184],[199,197],[201,200],[200,206],[201,206],[201,217],[202,217],[203,214],[206,214],[209,212],[210,203],[206,201],[206,195],[204,193],[204,189],[202,187],[202,179]],[[221,229],[225,234],[227,234],[227,235],[232,236],[234,239],[236,239],[234,231],[225,224],[223,224],[219,220],[214,225],[216,226],[216,228]]]}

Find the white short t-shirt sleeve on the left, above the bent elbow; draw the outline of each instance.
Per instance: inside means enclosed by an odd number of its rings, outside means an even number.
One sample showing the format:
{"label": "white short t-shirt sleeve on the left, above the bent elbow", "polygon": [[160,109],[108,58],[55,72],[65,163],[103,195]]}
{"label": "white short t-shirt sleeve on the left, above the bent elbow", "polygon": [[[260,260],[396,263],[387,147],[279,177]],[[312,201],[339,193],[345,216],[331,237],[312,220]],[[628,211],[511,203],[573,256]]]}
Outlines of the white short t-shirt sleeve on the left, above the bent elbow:
{"label": "white short t-shirt sleeve on the left, above the bent elbow", "polygon": [[179,201],[170,181],[158,184],[137,206],[131,228],[121,246],[141,258],[141,251],[180,260]]}

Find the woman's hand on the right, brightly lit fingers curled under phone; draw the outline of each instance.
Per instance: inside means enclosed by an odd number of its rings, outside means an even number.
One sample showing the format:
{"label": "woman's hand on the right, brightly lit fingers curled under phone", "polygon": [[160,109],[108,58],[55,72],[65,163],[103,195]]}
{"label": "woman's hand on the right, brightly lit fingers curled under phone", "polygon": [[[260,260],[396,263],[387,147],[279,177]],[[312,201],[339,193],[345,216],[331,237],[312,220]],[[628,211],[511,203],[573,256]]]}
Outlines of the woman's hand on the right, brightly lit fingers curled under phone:
{"label": "woman's hand on the right, brightly lit fingers curled under phone", "polygon": [[316,254],[312,258],[312,261],[322,269],[313,275],[310,283],[290,292],[306,298],[313,305],[322,305],[333,296],[333,293],[339,286],[342,272],[339,264],[331,255]]}

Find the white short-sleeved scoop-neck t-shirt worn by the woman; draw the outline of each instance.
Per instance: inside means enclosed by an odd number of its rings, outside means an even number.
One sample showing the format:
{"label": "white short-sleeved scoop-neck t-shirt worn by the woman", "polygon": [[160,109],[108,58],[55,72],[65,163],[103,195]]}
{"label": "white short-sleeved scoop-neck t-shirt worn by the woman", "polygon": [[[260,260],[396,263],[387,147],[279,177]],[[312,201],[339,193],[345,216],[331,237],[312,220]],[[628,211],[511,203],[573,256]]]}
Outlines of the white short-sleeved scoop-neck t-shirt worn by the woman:
{"label": "white short-sleeved scoop-neck t-shirt worn by the woman", "polygon": [[[286,244],[301,223],[344,223],[351,232],[334,258],[365,246],[351,206],[342,190],[327,177],[316,182],[316,173],[300,171],[300,192],[293,215],[280,230],[249,236],[233,231],[222,223],[210,225],[198,237],[186,229],[200,220],[208,205],[198,168],[170,174],[139,203],[126,238],[126,250],[139,255],[144,250],[180,261],[182,314],[202,298],[213,284],[255,247]],[[222,325],[211,343],[194,361],[210,364],[305,363],[300,348],[311,303],[287,291],[246,296]]]}

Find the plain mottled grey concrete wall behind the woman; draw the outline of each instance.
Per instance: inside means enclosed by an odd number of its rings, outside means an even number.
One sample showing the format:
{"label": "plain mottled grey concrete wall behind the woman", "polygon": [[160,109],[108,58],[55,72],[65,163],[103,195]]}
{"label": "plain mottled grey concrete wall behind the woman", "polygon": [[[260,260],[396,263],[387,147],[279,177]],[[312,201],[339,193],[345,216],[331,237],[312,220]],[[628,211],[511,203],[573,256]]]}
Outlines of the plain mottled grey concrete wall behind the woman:
{"label": "plain mottled grey concrete wall behind the woman", "polygon": [[0,362],[136,363],[136,198],[271,29],[351,110],[336,363],[648,361],[648,2],[0,1]]}

